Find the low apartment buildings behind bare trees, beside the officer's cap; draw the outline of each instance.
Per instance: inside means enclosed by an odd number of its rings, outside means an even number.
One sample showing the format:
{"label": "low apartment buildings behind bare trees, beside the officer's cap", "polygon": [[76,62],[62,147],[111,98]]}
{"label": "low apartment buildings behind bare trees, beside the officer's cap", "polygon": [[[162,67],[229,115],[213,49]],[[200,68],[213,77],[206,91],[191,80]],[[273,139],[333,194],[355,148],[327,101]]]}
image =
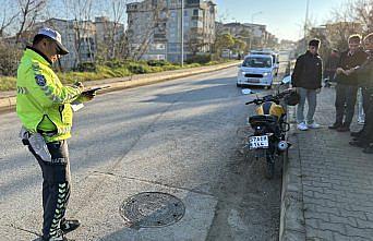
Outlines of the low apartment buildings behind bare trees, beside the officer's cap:
{"label": "low apartment buildings behind bare trees, beside the officer's cap", "polygon": [[99,52],[115,56],[113,51],[124,36],[124,25],[113,23],[105,16],[95,17],[95,21],[49,19],[35,23],[32,31],[23,33],[23,45],[29,44],[41,27],[50,27],[61,34],[62,43],[70,52],[60,61],[65,70],[75,69],[80,63],[95,62]]}

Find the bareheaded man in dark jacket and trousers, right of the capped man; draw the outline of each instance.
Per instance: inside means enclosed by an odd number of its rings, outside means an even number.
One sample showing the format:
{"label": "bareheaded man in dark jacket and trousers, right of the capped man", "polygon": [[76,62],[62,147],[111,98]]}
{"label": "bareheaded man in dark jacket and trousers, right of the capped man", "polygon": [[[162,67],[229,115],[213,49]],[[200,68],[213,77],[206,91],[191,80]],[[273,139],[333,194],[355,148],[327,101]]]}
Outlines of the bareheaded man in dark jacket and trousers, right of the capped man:
{"label": "bareheaded man in dark jacket and trousers, right of the capped man", "polygon": [[350,131],[359,88],[359,82],[356,73],[347,75],[345,71],[361,65],[368,57],[368,55],[360,48],[360,41],[361,37],[359,35],[351,35],[349,37],[349,49],[341,52],[336,71],[336,121],[329,126],[329,129],[336,129],[339,132]]}

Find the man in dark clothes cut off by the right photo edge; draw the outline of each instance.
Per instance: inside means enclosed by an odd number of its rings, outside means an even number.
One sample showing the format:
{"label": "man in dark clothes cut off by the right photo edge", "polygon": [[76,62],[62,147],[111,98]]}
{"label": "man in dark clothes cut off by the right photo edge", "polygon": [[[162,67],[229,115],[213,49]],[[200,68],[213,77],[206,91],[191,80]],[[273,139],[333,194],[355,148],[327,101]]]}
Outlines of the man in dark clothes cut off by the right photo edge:
{"label": "man in dark clothes cut off by the right photo edge", "polygon": [[345,71],[347,75],[357,74],[366,95],[364,101],[368,101],[364,128],[357,133],[357,137],[350,144],[363,147],[364,153],[373,154],[373,33],[364,38],[364,47],[369,53],[368,60],[361,67]]}

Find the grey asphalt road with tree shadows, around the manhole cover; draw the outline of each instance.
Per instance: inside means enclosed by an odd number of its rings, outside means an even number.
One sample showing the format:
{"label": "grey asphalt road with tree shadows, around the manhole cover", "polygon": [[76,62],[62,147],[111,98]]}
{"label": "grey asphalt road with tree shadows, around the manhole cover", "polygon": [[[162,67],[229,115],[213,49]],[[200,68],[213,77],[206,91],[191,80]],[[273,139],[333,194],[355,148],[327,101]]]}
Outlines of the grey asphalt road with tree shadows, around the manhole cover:
{"label": "grey asphalt road with tree shadows, around the manhole cover", "polygon": [[[280,165],[273,180],[242,155],[253,107],[228,69],[97,96],[75,113],[70,140],[75,240],[277,240]],[[257,92],[265,92],[257,89]],[[41,173],[22,146],[15,113],[0,116],[0,240],[38,240]],[[141,192],[185,205],[167,227],[131,229],[119,214]]]}

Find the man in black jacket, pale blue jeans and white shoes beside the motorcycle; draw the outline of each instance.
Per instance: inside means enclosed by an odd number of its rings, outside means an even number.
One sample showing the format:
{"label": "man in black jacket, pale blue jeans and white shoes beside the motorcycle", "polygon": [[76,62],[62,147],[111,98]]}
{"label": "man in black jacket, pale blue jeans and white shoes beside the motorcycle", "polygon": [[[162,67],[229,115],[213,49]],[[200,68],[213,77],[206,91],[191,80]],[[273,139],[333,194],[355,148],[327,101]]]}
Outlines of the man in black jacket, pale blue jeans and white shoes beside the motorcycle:
{"label": "man in black jacket, pale blue jeans and white shoes beside the motorcycle", "polygon": [[[298,129],[305,131],[320,128],[313,116],[316,110],[316,94],[322,87],[323,63],[318,56],[320,40],[312,39],[309,43],[309,50],[297,59],[294,71],[291,75],[292,87],[297,88],[300,95],[300,101],[297,108]],[[306,122],[304,120],[305,99],[309,104]]]}

